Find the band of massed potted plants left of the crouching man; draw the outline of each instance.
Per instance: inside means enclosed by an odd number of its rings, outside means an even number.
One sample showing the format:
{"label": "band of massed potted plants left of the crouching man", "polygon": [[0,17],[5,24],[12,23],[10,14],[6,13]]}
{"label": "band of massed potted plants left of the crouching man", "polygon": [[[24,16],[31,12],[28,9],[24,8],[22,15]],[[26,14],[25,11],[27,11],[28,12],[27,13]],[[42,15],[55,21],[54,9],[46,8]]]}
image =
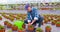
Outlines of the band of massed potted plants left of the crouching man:
{"label": "band of massed potted plants left of the crouching man", "polygon": [[[5,14],[5,13],[2,13],[2,16],[6,19],[9,19],[11,21],[14,21],[15,20],[24,20],[26,18],[26,15],[25,14]],[[2,20],[2,16],[0,16],[0,20]]]}

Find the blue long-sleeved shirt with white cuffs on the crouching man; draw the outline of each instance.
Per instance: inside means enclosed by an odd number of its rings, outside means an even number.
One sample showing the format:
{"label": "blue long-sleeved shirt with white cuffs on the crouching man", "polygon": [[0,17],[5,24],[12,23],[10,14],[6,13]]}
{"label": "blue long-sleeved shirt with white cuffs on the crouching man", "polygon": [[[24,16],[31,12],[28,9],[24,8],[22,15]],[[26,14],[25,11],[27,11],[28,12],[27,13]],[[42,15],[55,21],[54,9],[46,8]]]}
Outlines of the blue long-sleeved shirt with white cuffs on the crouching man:
{"label": "blue long-sleeved shirt with white cuffs on the crouching man", "polygon": [[39,12],[38,12],[38,9],[36,8],[32,8],[32,11],[31,12],[27,12],[27,19],[28,19],[28,22],[31,22],[31,20],[38,20],[39,18]]}

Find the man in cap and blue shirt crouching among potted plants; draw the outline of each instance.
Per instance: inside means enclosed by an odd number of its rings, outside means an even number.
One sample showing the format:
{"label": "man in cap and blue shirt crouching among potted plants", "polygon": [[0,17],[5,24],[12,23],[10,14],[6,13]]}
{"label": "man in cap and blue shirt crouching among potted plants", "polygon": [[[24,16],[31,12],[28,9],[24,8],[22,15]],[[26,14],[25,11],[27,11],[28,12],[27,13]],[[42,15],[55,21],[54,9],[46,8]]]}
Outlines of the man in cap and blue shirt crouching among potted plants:
{"label": "man in cap and blue shirt crouching among potted plants", "polygon": [[40,27],[43,21],[43,17],[40,16],[37,8],[31,7],[29,4],[26,4],[25,9],[27,10],[27,20],[25,20],[25,23],[27,23],[28,25],[35,25],[38,23],[38,27]]}

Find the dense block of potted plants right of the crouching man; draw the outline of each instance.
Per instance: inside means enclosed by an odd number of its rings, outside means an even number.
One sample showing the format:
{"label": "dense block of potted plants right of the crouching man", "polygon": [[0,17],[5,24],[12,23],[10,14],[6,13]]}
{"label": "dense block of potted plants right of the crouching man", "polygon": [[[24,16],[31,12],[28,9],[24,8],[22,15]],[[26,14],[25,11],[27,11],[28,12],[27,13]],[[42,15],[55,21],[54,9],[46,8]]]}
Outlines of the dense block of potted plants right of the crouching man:
{"label": "dense block of potted plants right of the crouching man", "polygon": [[60,15],[44,15],[44,22],[51,22],[52,25],[56,25],[56,27],[60,27]]}

